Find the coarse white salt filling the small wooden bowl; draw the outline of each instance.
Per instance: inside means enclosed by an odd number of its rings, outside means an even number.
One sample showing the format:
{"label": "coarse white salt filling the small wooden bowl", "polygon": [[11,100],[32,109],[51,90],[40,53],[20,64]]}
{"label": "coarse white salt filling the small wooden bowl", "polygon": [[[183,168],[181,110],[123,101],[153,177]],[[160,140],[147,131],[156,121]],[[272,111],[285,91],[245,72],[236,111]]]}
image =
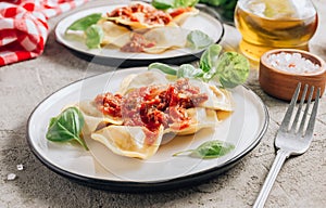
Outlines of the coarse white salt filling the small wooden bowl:
{"label": "coarse white salt filling the small wooden bowl", "polygon": [[300,75],[315,73],[321,68],[318,64],[312,63],[300,53],[271,54],[267,56],[267,63],[279,70]]}

